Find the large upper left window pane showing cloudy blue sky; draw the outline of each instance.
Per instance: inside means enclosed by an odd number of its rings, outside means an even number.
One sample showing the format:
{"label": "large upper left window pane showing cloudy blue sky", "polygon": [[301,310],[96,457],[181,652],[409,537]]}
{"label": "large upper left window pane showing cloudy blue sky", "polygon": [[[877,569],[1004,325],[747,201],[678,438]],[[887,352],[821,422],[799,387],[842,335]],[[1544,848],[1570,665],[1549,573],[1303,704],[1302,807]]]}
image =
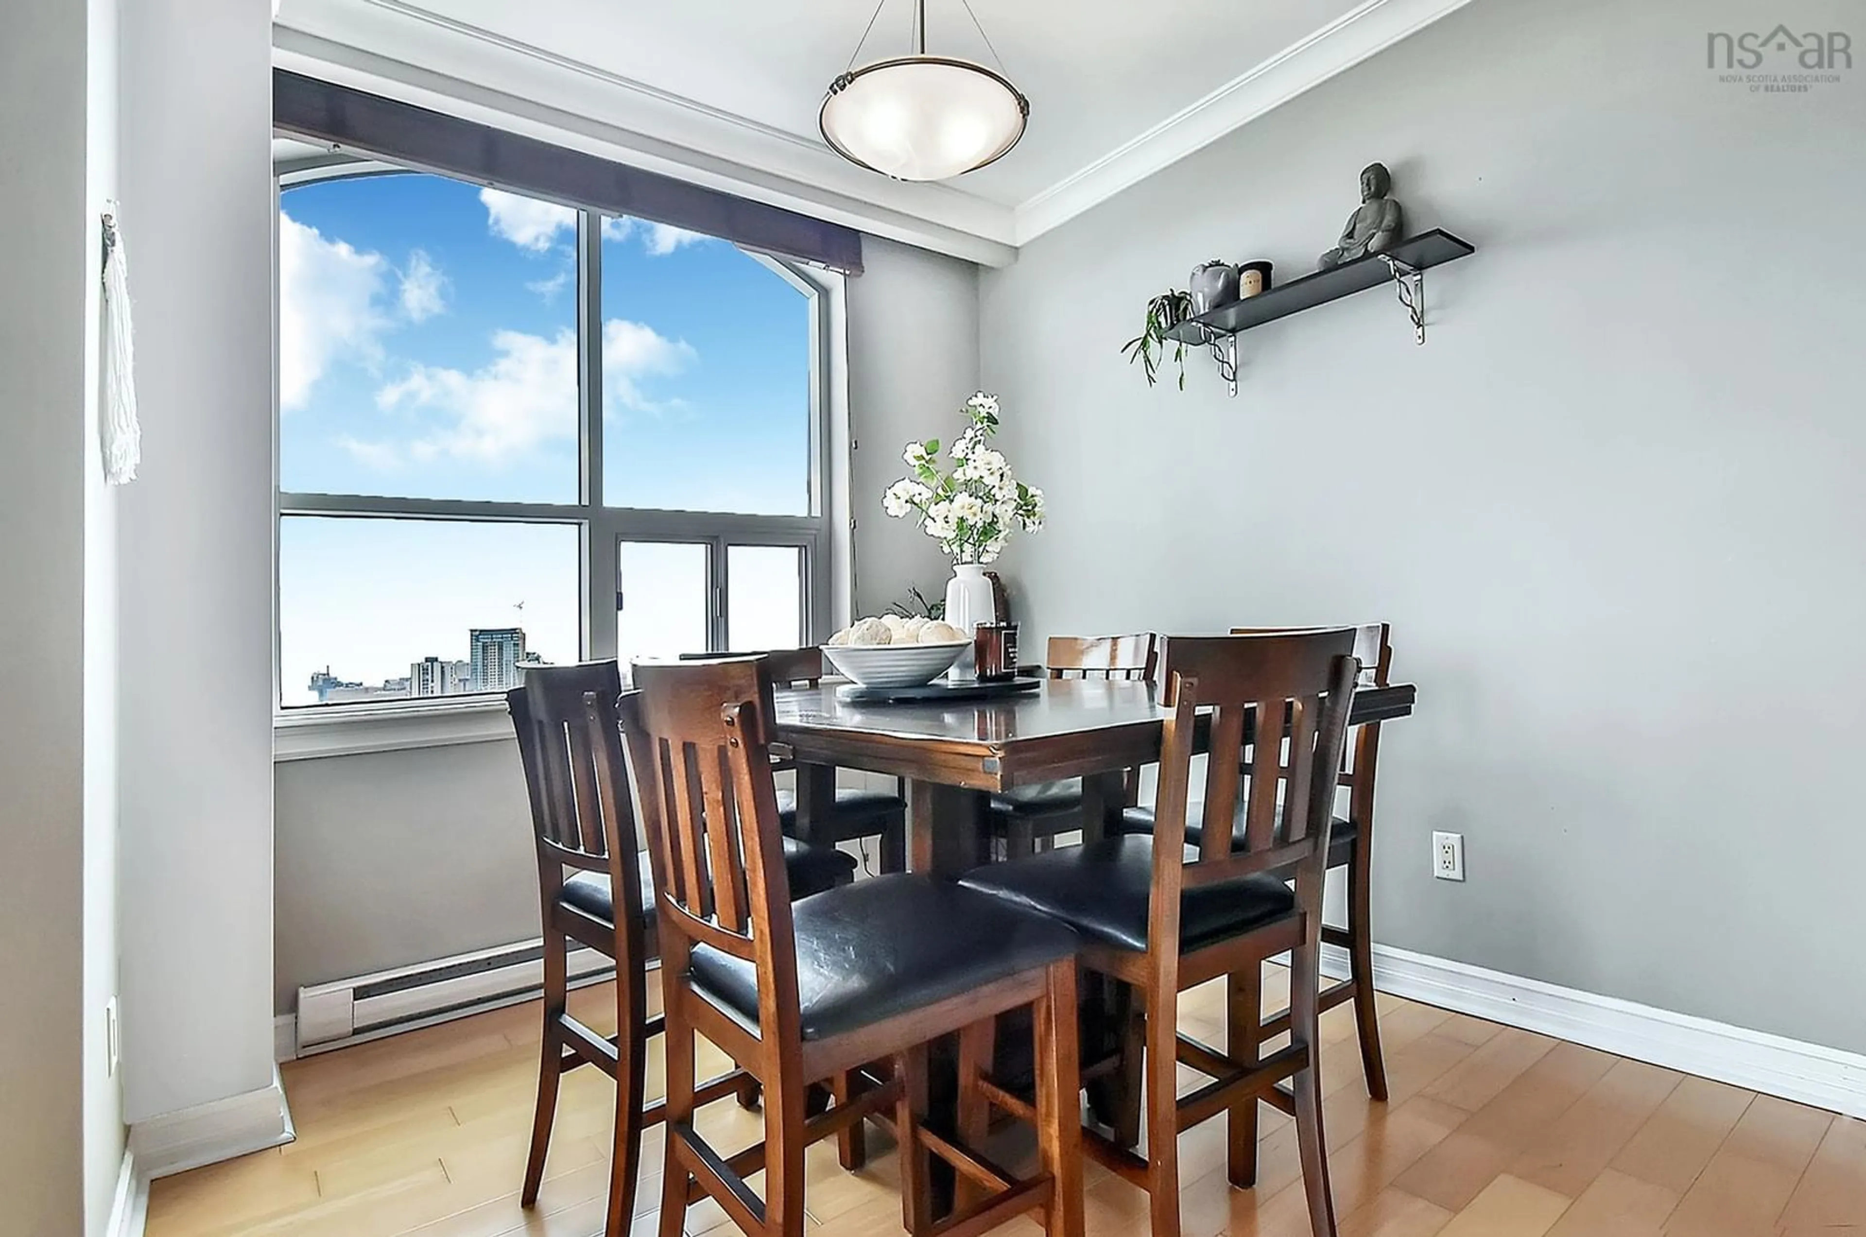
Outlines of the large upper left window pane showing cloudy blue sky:
{"label": "large upper left window pane showing cloudy blue sky", "polygon": [[577,213],[439,175],[285,188],[278,476],[577,502]]}

